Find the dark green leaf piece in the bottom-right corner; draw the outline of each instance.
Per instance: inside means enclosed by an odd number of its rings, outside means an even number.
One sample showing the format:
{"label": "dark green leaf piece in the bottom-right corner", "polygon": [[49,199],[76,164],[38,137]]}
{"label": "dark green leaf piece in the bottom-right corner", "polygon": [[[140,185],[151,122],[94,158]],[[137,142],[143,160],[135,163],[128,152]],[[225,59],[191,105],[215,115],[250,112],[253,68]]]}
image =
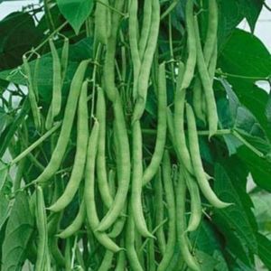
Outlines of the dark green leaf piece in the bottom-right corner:
{"label": "dark green leaf piece in the bottom-right corner", "polygon": [[268,270],[271,269],[271,241],[264,235],[257,233],[258,256]]}

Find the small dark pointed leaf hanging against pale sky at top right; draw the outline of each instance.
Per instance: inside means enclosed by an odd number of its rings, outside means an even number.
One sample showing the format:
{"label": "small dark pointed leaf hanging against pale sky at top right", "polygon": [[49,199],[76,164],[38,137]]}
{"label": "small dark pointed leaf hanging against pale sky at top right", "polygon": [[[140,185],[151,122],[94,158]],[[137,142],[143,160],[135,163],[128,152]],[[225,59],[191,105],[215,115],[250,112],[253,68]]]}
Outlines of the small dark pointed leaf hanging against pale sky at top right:
{"label": "small dark pointed leaf hanging against pale sky at top right", "polygon": [[263,2],[258,0],[239,0],[239,5],[253,33],[257,18],[262,10]]}

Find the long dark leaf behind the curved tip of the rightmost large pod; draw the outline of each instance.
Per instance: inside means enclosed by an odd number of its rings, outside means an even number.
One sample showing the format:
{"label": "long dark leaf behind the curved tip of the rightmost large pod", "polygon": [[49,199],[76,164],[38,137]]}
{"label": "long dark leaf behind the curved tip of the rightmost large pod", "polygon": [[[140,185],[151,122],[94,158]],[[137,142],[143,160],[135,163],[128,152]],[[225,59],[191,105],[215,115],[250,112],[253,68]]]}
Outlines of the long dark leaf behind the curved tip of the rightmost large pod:
{"label": "long dark leaf behind the curved tip of the rightmost large pod", "polygon": [[253,251],[257,252],[257,239],[254,231],[249,224],[248,216],[242,202],[238,197],[238,192],[232,186],[229,176],[220,164],[215,165],[215,182],[214,191],[222,201],[232,202],[234,205],[228,208],[215,210],[219,217],[226,220],[230,229],[235,231],[240,238],[246,241],[246,246]]}

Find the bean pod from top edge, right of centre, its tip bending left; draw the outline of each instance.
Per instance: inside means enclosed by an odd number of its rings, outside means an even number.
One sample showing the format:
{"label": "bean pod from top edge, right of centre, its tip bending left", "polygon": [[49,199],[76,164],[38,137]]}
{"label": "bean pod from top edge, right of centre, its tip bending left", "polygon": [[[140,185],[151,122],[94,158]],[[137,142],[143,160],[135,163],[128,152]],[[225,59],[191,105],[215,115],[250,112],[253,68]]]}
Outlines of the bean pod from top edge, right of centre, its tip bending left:
{"label": "bean pod from top edge, right of centre, its tip bending left", "polygon": [[185,5],[185,24],[187,31],[188,59],[185,63],[185,70],[182,79],[181,89],[187,89],[192,81],[197,61],[197,45],[195,39],[193,21],[193,0],[187,0]]}

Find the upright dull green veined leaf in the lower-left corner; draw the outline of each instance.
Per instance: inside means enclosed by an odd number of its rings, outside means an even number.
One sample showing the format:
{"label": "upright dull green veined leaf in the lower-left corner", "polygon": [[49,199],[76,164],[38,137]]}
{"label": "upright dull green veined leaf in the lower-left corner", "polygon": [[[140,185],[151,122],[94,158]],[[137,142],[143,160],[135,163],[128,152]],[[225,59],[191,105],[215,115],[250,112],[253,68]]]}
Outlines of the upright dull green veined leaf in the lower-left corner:
{"label": "upright dull green veined leaf in the lower-left corner", "polygon": [[2,271],[19,270],[32,232],[33,219],[30,215],[26,194],[18,192],[5,229]]}

